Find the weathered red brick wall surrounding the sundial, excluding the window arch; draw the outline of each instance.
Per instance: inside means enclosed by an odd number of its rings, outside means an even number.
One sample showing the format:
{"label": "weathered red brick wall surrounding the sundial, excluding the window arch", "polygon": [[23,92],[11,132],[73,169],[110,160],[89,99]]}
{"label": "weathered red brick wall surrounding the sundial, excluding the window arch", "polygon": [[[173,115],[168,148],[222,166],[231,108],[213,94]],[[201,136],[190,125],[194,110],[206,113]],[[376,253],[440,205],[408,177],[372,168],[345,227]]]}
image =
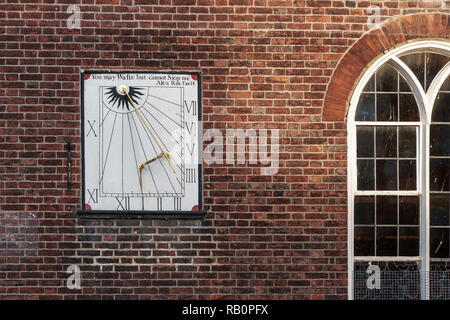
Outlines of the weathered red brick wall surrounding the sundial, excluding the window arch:
{"label": "weathered red brick wall surrounding the sundial, excluding the window arch", "polygon": [[[79,29],[67,27],[71,4]],[[346,124],[322,111],[370,5],[381,21],[449,11],[445,1],[0,0],[0,299],[346,299]],[[78,218],[79,74],[95,68],[201,71],[204,128],[279,129],[278,174],[206,166],[201,221]],[[79,290],[66,287],[72,264]]]}

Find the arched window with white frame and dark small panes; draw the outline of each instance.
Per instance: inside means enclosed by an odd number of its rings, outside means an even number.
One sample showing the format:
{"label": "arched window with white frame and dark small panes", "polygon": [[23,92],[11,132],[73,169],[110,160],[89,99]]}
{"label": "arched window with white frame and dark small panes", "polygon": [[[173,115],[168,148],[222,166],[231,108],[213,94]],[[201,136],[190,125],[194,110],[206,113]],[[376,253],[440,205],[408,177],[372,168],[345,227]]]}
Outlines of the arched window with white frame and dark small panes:
{"label": "arched window with white frame and dark small panes", "polygon": [[[450,262],[449,72],[448,43],[417,42],[378,59],[355,89],[350,298],[450,298],[450,287],[442,293],[433,281]],[[383,271],[380,289],[367,288],[370,265]]]}

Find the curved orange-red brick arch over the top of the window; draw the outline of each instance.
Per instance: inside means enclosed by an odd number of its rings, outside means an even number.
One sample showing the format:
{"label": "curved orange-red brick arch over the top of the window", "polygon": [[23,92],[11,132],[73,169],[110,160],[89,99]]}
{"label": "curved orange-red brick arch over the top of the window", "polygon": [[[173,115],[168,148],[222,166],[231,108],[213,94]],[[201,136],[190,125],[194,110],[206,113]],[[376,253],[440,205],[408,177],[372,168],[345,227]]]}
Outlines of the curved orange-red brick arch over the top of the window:
{"label": "curved orange-red brick arch over the top of the window", "polygon": [[364,70],[387,50],[408,41],[449,39],[450,15],[414,14],[394,18],[365,34],[345,53],[328,85],[323,121],[344,121],[357,80]]}

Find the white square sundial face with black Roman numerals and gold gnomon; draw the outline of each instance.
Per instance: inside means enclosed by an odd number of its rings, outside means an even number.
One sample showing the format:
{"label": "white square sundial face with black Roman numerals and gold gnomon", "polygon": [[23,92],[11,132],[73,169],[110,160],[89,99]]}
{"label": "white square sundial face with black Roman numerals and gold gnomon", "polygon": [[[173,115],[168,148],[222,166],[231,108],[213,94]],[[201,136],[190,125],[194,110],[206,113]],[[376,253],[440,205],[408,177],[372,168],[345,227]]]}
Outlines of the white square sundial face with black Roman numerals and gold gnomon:
{"label": "white square sundial face with black Roman numerals and gold gnomon", "polygon": [[84,76],[86,208],[199,208],[201,143],[193,132],[199,128],[196,79],[168,73]]}

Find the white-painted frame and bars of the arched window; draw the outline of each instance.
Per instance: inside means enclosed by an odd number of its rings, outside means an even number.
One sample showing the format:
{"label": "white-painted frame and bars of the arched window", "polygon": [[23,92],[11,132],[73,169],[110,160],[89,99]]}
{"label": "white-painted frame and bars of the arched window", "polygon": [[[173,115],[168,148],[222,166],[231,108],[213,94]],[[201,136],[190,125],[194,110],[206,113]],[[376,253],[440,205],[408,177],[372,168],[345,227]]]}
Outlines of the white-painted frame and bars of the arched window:
{"label": "white-painted frame and bars of the arched window", "polygon": [[[433,103],[441,88],[443,82],[450,75],[450,62],[447,63],[441,71],[435,76],[433,82],[428,88],[427,93],[424,92],[421,84],[416,79],[414,73],[399,59],[399,56],[414,52],[433,52],[446,56],[450,56],[450,41],[425,40],[415,41],[404,44],[390,50],[376,61],[374,61],[366,70],[356,85],[352,98],[350,100],[347,113],[347,174],[348,174],[348,298],[353,300],[353,268],[355,261],[416,261],[420,263],[421,270],[421,298],[429,299],[428,288],[426,283],[426,274],[429,271],[429,137],[430,123],[433,109]],[[385,63],[391,63],[399,73],[405,78],[410,85],[411,90],[418,100],[420,121],[419,122],[377,122],[377,121],[355,121],[356,108],[361,93],[370,78]],[[418,98],[418,99],[417,99]],[[378,125],[409,125],[419,127],[419,136],[417,139],[417,191],[383,191],[381,194],[388,195],[419,195],[421,201],[420,210],[420,247],[419,256],[417,257],[358,257],[355,260],[354,252],[354,197],[355,195],[377,194],[376,191],[364,192],[357,191],[357,167],[356,167],[356,126],[378,126]]]}

